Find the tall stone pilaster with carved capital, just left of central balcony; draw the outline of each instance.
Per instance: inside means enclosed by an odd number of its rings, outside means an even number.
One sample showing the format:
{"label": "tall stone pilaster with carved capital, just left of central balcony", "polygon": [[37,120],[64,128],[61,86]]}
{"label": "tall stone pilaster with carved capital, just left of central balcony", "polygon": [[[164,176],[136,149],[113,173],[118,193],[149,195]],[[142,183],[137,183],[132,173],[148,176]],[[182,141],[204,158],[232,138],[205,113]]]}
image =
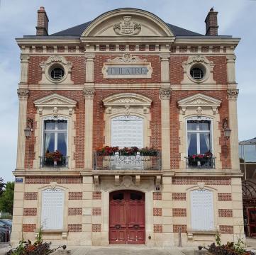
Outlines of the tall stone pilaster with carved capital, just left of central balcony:
{"label": "tall stone pilaster with carved capital, just left of central balcony", "polygon": [[95,89],[84,89],[84,167],[92,169],[93,108]]}

